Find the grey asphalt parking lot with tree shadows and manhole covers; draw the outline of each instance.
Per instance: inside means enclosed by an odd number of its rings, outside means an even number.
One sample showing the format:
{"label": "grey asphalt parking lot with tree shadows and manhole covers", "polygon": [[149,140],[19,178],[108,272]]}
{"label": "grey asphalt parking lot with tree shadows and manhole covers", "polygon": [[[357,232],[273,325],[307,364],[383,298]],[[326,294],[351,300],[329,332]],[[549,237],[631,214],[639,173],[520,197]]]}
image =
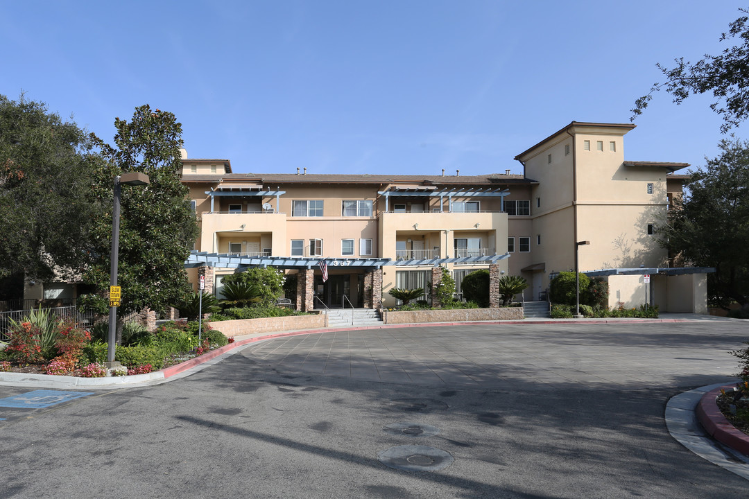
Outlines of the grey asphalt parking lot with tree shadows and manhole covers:
{"label": "grey asphalt parking lot with tree shadows and manhole covers", "polygon": [[0,408],[0,496],[746,497],[671,438],[664,407],[731,379],[748,333],[451,325],[251,343],[162,385]]}

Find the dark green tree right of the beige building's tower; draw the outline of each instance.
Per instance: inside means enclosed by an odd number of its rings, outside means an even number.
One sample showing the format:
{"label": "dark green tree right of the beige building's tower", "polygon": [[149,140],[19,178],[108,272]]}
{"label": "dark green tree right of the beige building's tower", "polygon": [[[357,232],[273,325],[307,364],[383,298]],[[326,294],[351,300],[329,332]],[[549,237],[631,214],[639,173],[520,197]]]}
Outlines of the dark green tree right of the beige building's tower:
{"label": "dark green tree right of the beige building's tower", "polygon": [[709,301],[749,306],[749,141],[731,137],[718,144],[721,156],[692,173],[680,206],[656,234],[661,244],[708,274]]}

